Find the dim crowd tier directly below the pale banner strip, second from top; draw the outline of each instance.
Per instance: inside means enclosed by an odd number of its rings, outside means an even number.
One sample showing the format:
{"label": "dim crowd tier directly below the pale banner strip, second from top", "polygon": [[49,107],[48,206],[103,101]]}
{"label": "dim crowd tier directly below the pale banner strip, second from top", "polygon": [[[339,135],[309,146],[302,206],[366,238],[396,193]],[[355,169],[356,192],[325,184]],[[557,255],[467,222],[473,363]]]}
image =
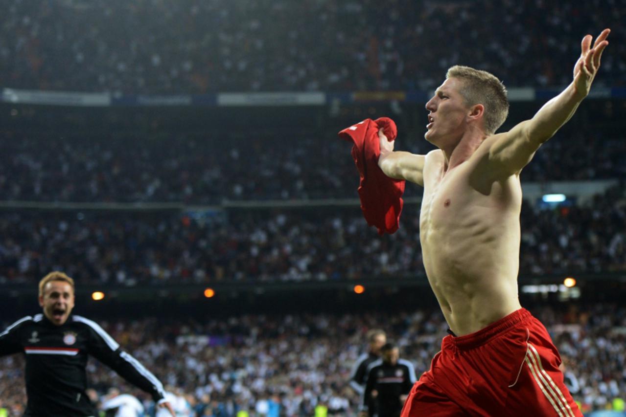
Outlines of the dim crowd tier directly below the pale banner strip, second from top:
{"label": "dim crowd tier directly below the pale banner strip, second from top", "polygon": [[[425,112],[424,112],[425,113]],[[588,118],[605,117],[596,112]],[[626,141],[587,116],[545,144],[523,181],[623,178]],[[593,126],[593,128],[592,128]],[[357,198],[350,145],[336,132],[209,134],[0,132],[0,201],[177,202]],[[398,148],[426,153],[418,134]],[[158,162],[157,162],[158,161]],[[254,167],[254,169],[250,169]],[[421,193],[407,187],[407,195]]]}

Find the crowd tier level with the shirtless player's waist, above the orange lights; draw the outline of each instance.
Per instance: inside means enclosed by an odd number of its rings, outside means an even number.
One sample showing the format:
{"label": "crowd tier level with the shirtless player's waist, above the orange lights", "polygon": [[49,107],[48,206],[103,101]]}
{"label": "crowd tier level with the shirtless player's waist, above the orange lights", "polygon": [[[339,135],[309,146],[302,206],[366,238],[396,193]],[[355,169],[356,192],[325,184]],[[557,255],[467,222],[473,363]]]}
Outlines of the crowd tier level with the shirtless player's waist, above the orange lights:
{"label": "crowd tier level with the shirtless player's waist, above the orange lights", "polygon": [[[61,269],[80,283],[267,282],[423,276],[419,209],[378,236],[352,208],[215,213],[0,212],[0,283]],[[521,211],[523,276],[626,271],[626,187]]]}

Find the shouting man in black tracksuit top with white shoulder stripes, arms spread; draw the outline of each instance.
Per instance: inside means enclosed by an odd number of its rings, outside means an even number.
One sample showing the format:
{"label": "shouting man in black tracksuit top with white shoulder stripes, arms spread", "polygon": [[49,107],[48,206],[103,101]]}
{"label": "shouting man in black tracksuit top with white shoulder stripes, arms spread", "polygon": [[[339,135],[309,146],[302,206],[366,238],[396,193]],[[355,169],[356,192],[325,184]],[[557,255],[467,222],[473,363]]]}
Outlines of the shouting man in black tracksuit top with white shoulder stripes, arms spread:
{"label": "shouting man in black tracksuit top with white shoulder stripes, arms spread", "polygon": [[87,389],[86,365],[91,355],[126,381],[152,395],[175,416],[163,386],[98,324],[71,314],[74,280],[54,271],[39,281],[43,314],[26,316],[0,333],[0,356],[22,352],[26,358],[25,416],[96,416]]}

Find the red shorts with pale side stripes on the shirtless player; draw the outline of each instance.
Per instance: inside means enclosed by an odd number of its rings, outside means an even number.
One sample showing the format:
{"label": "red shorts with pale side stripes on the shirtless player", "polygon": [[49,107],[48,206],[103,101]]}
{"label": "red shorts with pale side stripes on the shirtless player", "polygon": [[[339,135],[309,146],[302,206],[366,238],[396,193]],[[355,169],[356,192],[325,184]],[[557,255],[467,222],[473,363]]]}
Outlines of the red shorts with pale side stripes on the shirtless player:
{"label": "red shorts with pale side stripes on the shirtless player", "polygon": [[519,309],[467,336],[446,336],[402,417],[582,417],[548,331]]}

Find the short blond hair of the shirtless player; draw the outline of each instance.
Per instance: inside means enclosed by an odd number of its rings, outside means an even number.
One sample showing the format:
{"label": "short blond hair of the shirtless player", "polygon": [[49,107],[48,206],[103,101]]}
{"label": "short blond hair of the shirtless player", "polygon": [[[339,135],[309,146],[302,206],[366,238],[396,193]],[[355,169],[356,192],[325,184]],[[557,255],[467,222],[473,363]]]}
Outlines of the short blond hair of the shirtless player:
{"label": "short blond hair of the shirtless player", "polygon": [[459,93],[465,104],[485,106],[485,132],[495,133],[508,116],[508,98],[506,87],[495,75],[480,69],[455,65],[448,69],[446,78],[458,78],[463,83]]}

